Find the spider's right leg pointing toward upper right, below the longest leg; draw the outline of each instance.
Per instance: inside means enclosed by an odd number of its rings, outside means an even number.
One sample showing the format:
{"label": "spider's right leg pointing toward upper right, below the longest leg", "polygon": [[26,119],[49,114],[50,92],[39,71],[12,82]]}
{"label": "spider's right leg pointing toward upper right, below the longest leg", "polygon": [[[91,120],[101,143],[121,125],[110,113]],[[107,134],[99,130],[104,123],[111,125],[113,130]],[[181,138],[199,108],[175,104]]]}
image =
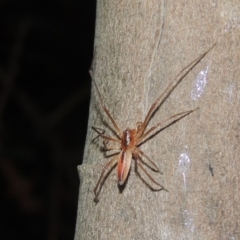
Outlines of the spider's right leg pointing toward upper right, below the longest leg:
{"label": "spider's right leg pointing toward upper right, below the longest leg", "polygon": [[189,110],[189,111],[185,111],[185,112],[181,112],[181,113],[177,113],[173,116],[171,116],[170,118],[165,119],[162,122],[159,122],[158,124],[156,124],[155,126],[151,127],[146,133],[144,133],[139,139],[138,139],[138,143],[137,145],[140,145],[142,143],[142,141],[144,140],[144,138],[146,138],[146,136],[149,135],[149,133],[151,133],[152,131],[154,131],[157,127],[161,126],[164,124],[164,126],[162,126],[161,129],[166,128],[167,126],[171,125],[174,122],[179,121],[180,119],[184,118],[185,116],[187,116],[188,114],[196,111],[199,108],[193,109],[193,110]]}

